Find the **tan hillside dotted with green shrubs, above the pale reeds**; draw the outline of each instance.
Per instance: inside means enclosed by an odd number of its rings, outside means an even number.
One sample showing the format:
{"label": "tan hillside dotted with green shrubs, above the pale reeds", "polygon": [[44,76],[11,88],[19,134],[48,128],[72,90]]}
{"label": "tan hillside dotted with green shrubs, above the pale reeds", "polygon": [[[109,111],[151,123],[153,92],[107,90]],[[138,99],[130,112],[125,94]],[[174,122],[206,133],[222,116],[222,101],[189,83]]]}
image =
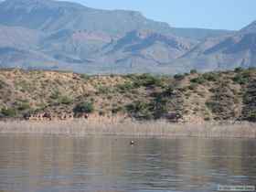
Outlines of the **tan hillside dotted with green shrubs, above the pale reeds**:
{"label": "tan hillside dotted with green shrubs, above the pale reeds", "polygon": [[[73,72],[0,71],[2,118],[89,113],[90,117],[171,122],[256,121],[256,70],[167,76],[87,76]],[[60,116],[59,116],[60,115]]]}

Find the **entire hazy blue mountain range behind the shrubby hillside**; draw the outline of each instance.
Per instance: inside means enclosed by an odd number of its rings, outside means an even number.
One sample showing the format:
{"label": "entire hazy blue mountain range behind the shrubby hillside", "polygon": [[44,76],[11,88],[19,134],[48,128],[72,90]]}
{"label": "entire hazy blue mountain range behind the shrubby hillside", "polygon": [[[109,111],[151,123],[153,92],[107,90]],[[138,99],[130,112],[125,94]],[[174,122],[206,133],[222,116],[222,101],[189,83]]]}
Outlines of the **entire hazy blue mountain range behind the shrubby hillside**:
{"label": "entire hazy blue mountain range behind the shrubby hillside", "polygon": [[239,31],[176,28],[126,10],[0,1],[0,67],[165,73],[256,66],[256,22]]}

